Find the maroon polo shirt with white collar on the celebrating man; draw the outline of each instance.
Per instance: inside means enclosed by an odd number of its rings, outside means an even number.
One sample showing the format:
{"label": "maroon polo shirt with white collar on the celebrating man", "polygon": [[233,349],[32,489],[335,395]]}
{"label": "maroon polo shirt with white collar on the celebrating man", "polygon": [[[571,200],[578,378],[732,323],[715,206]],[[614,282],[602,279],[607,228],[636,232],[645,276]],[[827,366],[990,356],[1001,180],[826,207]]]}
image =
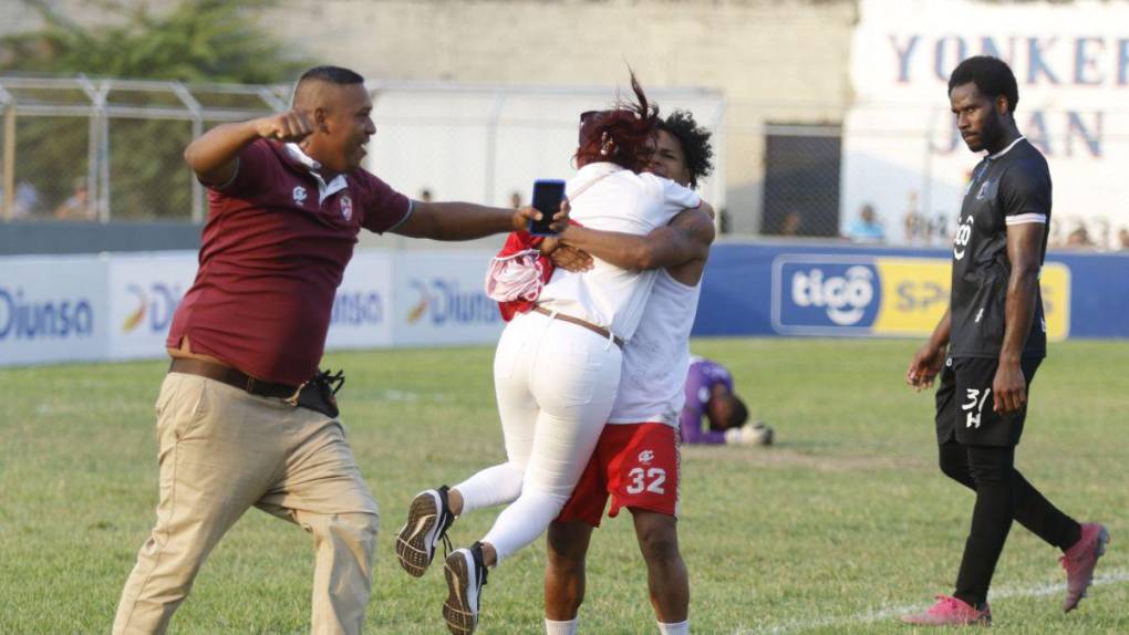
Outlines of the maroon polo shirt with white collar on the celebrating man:
{"label": "maroon polo shirt with white collar on the celebrating man", "polygon": [[406,196],[368,171],[343,177],[345,187],[318,201],[318,178],[283,144],[246,147],[234,180],[209,188],[200,268],[168,346],[186,335],[192,352],[256,379],[309,379],[360,228],[383,232],[411,211]]}

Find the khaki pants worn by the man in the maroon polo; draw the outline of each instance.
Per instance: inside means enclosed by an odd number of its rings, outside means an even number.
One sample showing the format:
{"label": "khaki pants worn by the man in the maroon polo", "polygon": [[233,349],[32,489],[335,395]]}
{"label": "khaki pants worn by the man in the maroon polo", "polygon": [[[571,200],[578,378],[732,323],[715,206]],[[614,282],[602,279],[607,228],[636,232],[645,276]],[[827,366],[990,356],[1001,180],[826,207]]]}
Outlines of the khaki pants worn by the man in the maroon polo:
{"label": "khaki pants worn by the man in the maroon polo", "polygon": [[360,632],[379,519],[339,422],[169,373],[157,434],[157,523],[122,590],[115,634],[164,633],[204,558],[252,505],[314,536],[312,632]]}

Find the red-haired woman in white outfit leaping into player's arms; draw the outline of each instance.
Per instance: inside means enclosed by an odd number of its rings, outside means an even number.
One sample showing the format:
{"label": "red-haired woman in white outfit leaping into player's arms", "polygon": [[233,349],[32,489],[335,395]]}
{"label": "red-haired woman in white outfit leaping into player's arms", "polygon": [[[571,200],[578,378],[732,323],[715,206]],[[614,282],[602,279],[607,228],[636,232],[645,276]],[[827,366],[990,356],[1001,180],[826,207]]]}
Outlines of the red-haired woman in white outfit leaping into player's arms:
{"label": "red-haired woman in white outfit leaping into player's arms", "polygon": [[[566,186],[571,218],[585,227],[646,235],[701,200],[646,168],[658,108],[631,77],[633,103],[580,116],[578,171]],[[487,567],[536,539],[560,513],[615,402],[621,347],[630,339],[656,271],[595,258],[590,270],[558,268],[532,310],[506,326],[495,355],[495,388],[507,461],[458,485],[421,492],[396,540],[401,565],[422,575],[456,515],[513,502],[489,532],[445,565],[452,633],[473,633]]]}

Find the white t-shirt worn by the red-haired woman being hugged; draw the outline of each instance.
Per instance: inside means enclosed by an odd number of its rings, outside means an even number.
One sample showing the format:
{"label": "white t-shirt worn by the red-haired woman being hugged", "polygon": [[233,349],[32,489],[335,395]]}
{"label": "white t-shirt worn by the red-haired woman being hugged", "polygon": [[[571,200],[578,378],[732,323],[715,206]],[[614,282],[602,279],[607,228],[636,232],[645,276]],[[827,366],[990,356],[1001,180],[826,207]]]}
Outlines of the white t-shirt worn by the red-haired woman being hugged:
{"label": "white t-shirt worn by the red-haired woman being hugged", "polygon": [[[606,162],[580,168],[569,179],[566,193],[572,220],[584,227],[640,236],[701,204],[698,194],[673,180]],[[631,339],[657,273],[622,270],[595,258],[593,268],[584,273],[553,271],[537,303]]]}

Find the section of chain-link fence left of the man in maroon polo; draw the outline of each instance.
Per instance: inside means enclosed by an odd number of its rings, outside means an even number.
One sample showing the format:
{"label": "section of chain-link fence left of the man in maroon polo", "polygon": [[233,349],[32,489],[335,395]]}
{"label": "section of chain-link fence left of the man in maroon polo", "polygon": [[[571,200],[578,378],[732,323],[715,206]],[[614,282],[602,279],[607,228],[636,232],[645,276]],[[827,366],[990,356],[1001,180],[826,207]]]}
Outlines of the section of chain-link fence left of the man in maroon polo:
{"label": "section of chain-link fence left of the man in maroon polo", "polygon": [[285,87],[0,77],[6,220],[201,220],[184,165],[208,126],[280,109]]}

